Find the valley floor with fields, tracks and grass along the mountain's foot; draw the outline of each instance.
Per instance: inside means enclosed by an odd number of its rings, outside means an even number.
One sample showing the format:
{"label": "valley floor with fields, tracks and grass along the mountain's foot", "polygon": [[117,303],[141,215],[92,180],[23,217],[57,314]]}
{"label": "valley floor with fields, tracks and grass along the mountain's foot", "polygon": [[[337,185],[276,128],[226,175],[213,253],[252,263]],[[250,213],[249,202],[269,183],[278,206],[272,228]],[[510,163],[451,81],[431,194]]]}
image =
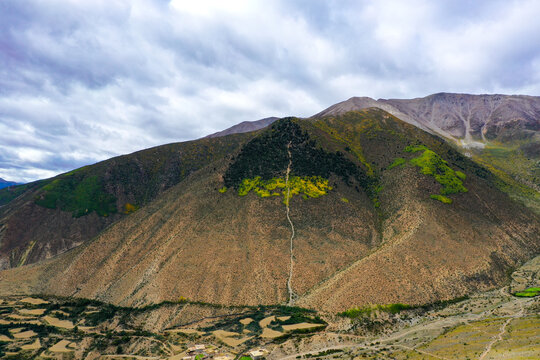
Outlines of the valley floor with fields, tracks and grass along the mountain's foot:
{"label": "valley floor with fields, tracks and grass along the mountain's foot", "polygon": [[528,262],[497,290],[416,307],[366,307],[349,316],[187,299],[127,308],[2,297],[0,352],[5,359],[534,359],[540,296],[517,297],[509,289],[540,285],[539,263],[540,257]]}

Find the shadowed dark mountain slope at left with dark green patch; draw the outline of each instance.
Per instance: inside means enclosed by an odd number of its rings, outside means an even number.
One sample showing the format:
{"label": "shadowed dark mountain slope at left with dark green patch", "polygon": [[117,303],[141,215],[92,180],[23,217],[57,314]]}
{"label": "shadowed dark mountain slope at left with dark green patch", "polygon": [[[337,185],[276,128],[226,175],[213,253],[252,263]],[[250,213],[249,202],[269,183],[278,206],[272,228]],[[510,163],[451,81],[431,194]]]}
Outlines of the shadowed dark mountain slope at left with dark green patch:
{"label": "shadowed dark mountain slope at left with dark green patch", "polygon": [[0,269],[84,243],[251,136],[158,146],[0,190]]}

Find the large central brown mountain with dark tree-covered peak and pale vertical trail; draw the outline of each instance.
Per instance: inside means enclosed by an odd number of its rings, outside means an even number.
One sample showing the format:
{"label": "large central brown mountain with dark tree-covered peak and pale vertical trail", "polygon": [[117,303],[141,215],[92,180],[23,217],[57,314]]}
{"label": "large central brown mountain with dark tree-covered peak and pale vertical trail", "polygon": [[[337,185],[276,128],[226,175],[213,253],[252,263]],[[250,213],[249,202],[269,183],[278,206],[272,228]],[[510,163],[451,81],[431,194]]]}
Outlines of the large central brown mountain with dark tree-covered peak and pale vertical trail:
{"label": "large central brown mountain with dark tree-covered peak and pale vertical trail", "polygon": [[[284,118],[259,132],[197,140],[192,152],[205,143],[227,150],[129,216],[111,212],[118,220],[82,245],[2,271],[0,293],[335,313],[494,288],[540,251],[539,216],[499,190],[495,175],[378,108]],[[30,206],[49,203],[47,191],[55,192],[46,186]],[[117,208],[129,200],[116,196]],[[75,216],[85,208],[56,204]]]}

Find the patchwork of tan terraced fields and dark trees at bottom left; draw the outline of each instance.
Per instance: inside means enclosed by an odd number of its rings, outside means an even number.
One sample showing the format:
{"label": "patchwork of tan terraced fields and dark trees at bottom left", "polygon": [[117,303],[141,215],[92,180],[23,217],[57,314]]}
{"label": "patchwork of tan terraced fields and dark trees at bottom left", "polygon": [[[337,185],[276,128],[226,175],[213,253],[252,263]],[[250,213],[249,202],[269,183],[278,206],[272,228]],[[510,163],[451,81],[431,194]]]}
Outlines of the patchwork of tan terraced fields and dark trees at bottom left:
{"label": "patchwork of tan terraced fields and dark trees at bottom left", "polygon": [[[315,312],[286,306],[224,307],[179,301],[144,308],[58,297],[0,299],[2,359],[234,359],[324,329]],[[272,336],[267,336],[272,334]]]}

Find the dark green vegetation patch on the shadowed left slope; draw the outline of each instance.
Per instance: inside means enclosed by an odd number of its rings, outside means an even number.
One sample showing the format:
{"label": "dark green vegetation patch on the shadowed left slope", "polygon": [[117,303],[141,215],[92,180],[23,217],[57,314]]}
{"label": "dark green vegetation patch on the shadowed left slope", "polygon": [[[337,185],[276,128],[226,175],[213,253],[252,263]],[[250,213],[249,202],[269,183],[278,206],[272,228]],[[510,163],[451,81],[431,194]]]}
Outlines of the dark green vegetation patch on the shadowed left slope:
{"label": "dark green vegetation patch on the shadowed left slope", "polygon": [[63,211],[71,211],[74,217],[95,211],[100,216],[115,213],[116,198],[104,191],[97,176],[80,178],[71,174],[53,180],[45,185],[43,194],[35,202],[37,205]]}

